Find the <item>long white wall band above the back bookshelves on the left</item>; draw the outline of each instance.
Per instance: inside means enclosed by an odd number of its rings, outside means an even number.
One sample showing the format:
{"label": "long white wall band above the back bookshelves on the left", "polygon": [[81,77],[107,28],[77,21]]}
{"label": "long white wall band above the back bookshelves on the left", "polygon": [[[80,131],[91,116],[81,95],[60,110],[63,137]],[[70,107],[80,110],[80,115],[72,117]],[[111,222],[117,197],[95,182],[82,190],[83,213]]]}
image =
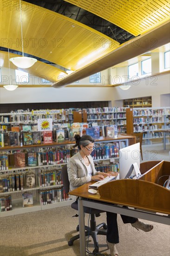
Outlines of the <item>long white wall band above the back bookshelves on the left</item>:
{"label": "long white wall band above the back bookshelves on the left", "polygon": [[[112,101],[114,88],[0,88],[0,103]],[[63,107],[64,108],[64,107]]]}

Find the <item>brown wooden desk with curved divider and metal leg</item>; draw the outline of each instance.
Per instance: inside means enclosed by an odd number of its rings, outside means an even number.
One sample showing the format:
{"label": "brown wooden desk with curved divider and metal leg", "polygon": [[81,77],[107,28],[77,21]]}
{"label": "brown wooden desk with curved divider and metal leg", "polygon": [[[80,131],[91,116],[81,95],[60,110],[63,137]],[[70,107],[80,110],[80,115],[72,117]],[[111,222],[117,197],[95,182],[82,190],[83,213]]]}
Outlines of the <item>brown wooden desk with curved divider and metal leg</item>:
{"label": "brown wooden desk with curved divider and metal leg", "polygon": [[[149,170],[145,169],[144,172],[144,168],[146,165],[147,162],[143,163],[143,167],[141,166],[141,169],[143,169],[143,175],[141,176],[140,181],[126,179],[108,182],[107,184],[102,185],[98,189],[100,195],[90,194],[88,192],[89,185],[93,182],[88,182],[83,186],[69,192],[70,195],[78,196],[78,220],[81,256],[86,255],[85,219],[83,211],[84,206],[170,225],[170,190],[157,184],[154,185],[154,182],[156,182],[158,176],[160,177],[160,175],[163,175],[163,173],[166,171],[166,168],[170,167],[170,162],[156,161],[155,166],[153,162],[149,162],[148,166],[149,168],[151,166],[151,168]],[[170,168],[167,169],[167,172],[170,172]],[[145,179],[150,181],[145,181]],[[141,188],[138,187],[138,183],[143,183]],[[144,186],[144,184],[146,186]],[[149,186],[148,189],[147,186]],[[146,189],[145,191],[143,190],[144,193],[146,193],[144,199],[140,198],[143,191],[141,190],[141,193],[138,193],[138,188]],[[148,192],[155,193],[155,190],[153,188],[158,188],[158,193],[161,191],[161,195],[163,197],[154,197],[150,194],[147,194]],[[119,196],[120,193],[121,195]],[[141,202],[139,199],[141,200]],[[148,199],[149,203],[145,202],[145,199]],[[159,202],[163,202],[163,209],[160,209]],[[148,206],[146,206],[146,204]],[[120,205],[129,206],[131,207],[131,209],[122,208]],[[157,214],[158,208],[159,214]]]}

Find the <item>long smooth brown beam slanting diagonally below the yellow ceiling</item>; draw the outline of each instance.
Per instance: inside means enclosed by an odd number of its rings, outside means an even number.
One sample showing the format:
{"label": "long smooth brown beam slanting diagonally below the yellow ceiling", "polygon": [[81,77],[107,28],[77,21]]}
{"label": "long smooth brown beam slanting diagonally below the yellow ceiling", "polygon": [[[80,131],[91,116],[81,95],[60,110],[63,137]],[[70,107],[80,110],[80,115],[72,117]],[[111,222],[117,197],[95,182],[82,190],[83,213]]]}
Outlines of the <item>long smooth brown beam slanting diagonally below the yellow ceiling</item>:
{"label": "long smooth brown beam slanting diagonally below the yellow ceiling", "polygon": [[[81,80],[92,74],[96,74],[109,67],[113,67],[121,62],[127,61],[138,55],[144,54],[148,51],[161,47],[164,44],[170,42],[170,22],[164,22],[156,28],[142,34],[128,42],[125,42],[121,46],[117,47],[111,53],[92,62],[86,67],[79,69],[78,71],[68,75],[62,80],[52,85],[54,88],[64,87],[68,84],[72,84],[75,81]],[[147,43],[148,42],[148,43]]]}

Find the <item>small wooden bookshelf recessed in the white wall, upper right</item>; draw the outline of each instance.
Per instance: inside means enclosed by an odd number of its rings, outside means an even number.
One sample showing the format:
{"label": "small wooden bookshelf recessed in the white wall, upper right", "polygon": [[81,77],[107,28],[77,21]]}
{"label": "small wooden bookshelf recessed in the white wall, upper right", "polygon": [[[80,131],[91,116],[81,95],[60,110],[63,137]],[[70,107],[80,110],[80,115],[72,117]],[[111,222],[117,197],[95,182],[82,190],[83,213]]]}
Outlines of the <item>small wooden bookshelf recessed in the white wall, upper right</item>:
{"label": "small wooden bookshelf recessed in the white wall, upper right", "polygon": [[134,99],[126,99],[123,101],[124,107],[126,108],[147,108],[152,107],[152,98],[148,97],[140,97]]}

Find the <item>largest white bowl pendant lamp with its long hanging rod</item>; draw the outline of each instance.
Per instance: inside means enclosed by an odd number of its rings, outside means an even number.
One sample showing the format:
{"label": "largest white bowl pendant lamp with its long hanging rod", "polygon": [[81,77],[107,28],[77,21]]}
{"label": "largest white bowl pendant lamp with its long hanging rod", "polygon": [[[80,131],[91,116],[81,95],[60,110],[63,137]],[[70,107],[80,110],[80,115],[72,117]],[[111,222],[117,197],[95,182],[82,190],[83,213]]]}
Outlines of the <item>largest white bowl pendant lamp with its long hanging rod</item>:
{"label": "largest white bowl pendant lamp with its long hanging rod", "polygon": [[20,0],[20,26],[21,26],[21,42],[22,42],[22,57],[11,58],[10,61],[13,64],[20,68],[32,67],[33,64],[37,61],[34,58],[24,57],[24,47],[23,47],[23,35],[22,35],[22,13],[21,13],[21,0]]}

